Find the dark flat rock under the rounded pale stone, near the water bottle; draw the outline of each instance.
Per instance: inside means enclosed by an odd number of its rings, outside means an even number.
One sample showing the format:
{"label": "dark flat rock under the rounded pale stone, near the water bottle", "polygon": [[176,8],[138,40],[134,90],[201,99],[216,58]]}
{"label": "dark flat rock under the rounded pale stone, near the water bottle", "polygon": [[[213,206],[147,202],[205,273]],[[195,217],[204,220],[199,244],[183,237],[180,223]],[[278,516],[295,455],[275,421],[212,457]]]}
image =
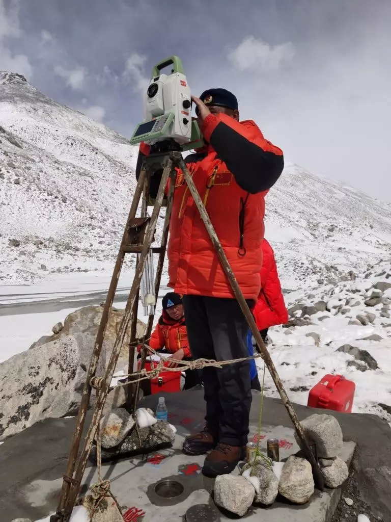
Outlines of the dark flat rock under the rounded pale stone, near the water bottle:
{"label": "dark flat rock under the rounded pale stone, near the water bottle", "polygon": [[[157,421],[148,428],[133,428],[124,440],[114,448],[102,448],[102,459],[110,460],[127,453],[150,453],[153,449],[172,444],[174,440],[175,433],[170,428],[169,423]],[[96,444],[92,446],[91,458],[96,462]]]}

